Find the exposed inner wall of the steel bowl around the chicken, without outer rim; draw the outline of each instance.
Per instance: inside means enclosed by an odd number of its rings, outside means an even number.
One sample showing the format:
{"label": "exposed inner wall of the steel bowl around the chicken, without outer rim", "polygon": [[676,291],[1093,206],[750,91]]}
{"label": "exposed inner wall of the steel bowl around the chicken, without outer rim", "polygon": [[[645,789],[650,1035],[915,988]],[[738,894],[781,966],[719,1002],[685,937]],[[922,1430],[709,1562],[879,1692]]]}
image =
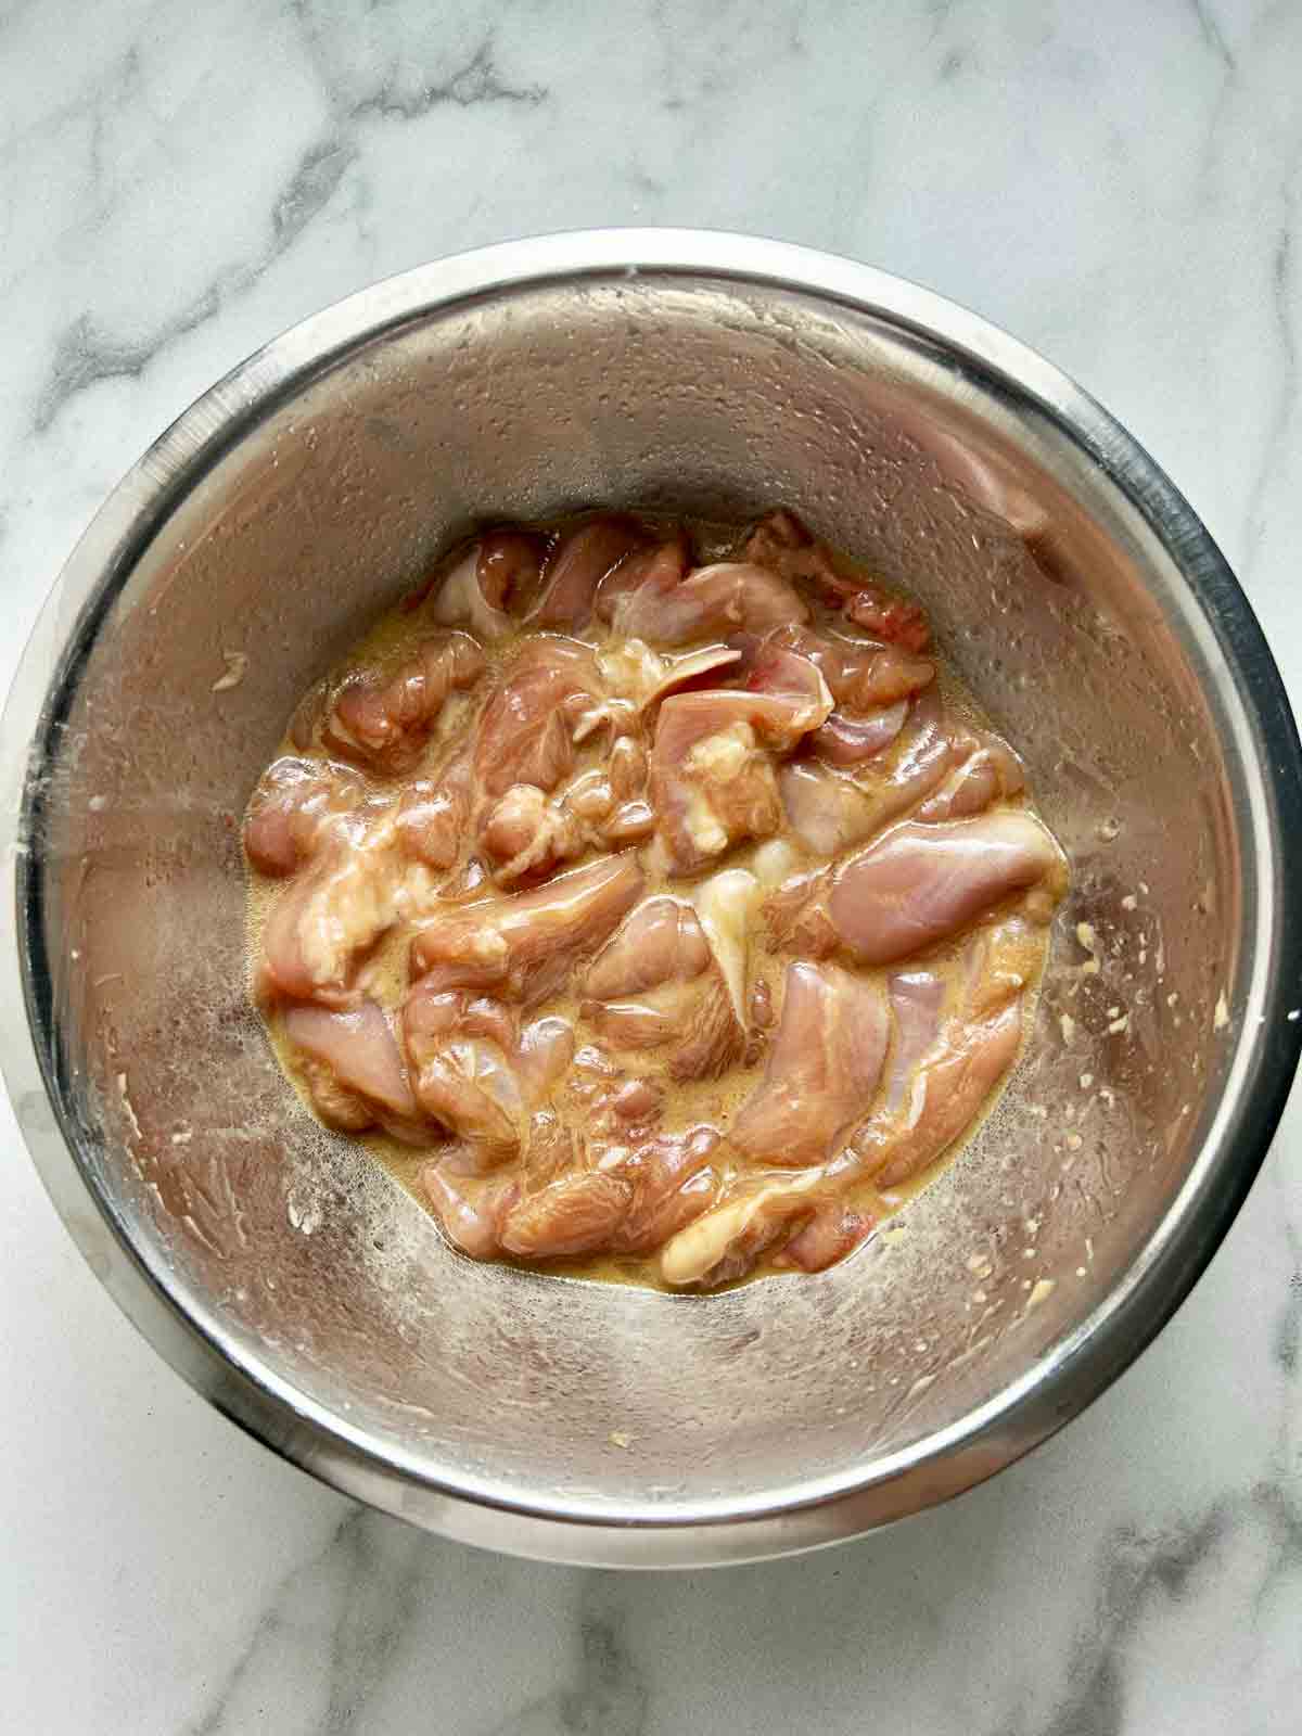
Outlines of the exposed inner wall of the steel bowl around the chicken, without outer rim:
{"label": "exposed inner wall of the steel bowl around the chicken, without outer rim", "polygon": [[[1215,637],[1049,411],[884,314],[595,274],[351,345],[189,483],[73,635],[28,842],[78,1161],[205,1335],[413,1483],[611,1521],[880,1483],[1071,1354],[1191,1174],[1257,941]],[[917,592],[1071,854],[998,1113],[814,1279],[474,1266],[302,1113],[248,1007],[238,819],[295,700],[476,521],[604,502],[788,503]]]}

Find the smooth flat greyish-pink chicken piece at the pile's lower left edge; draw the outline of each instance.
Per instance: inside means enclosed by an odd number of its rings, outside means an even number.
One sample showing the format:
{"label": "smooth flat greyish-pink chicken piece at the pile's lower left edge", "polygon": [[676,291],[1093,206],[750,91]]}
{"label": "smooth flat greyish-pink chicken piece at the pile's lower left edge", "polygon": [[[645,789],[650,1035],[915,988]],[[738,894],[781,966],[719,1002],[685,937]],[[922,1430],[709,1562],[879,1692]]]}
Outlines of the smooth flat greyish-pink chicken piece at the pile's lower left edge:
{"label": "smooth flat greyish-pink chicken piece at the pile's lower left edge", "polygon": [[304,1073],[325,1121],[349,1132],[378,1121],[398,1137],[431,1144],[432,1135],[420,1128],[420,1109],[394,1033],[373,1000],[347,1012],[290,1007],[285,1036],[300,1061],[309,1062]]}

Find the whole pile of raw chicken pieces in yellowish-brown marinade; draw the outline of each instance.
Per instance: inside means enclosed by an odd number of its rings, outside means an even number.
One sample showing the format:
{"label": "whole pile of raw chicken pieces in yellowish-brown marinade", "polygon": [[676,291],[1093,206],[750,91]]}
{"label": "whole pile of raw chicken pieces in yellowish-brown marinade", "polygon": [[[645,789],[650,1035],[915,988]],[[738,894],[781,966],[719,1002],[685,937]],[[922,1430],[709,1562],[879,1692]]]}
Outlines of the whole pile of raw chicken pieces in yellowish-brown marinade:
{"label": "whole pile of raw chicken pieces in yellowish-brown marinade", "polygon": [[1068,868],[911,599],[790,512],[490,529],[245,816],[307,1108],[477,1260],[818,1272],[1017,1059]]}

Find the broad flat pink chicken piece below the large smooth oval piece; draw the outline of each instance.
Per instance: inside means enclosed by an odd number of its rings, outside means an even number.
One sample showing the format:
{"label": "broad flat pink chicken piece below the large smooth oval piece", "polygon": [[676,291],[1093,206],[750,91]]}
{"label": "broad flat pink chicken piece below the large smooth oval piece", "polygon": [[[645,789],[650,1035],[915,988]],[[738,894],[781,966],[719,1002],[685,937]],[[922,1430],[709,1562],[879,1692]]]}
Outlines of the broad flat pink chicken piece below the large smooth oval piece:
{"label": "broad flat pink chicken piece below the large smooth oval piece", "polygon": [[877,1090],[889,1038],[880,984],[832,963],[786,967],[764,1080],[731,1141],[757,1163],[826,1163]]}

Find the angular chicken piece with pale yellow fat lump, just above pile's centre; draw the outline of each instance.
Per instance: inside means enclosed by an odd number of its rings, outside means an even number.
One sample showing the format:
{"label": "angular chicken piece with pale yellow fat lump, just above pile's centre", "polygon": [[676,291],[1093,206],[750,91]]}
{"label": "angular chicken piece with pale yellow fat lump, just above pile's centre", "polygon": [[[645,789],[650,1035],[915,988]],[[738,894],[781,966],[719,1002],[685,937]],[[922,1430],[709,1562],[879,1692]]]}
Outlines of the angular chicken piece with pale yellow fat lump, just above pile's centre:
{"label": "angular chicken piece with pale yellow fat lump, just above pile's centre", "polygon": [[727,687],[665,700],[651,800],[672,873],[693,873],[741,838],[778,832],[781,802],[764,750],[790,752],[818,713],[807,698]]}

